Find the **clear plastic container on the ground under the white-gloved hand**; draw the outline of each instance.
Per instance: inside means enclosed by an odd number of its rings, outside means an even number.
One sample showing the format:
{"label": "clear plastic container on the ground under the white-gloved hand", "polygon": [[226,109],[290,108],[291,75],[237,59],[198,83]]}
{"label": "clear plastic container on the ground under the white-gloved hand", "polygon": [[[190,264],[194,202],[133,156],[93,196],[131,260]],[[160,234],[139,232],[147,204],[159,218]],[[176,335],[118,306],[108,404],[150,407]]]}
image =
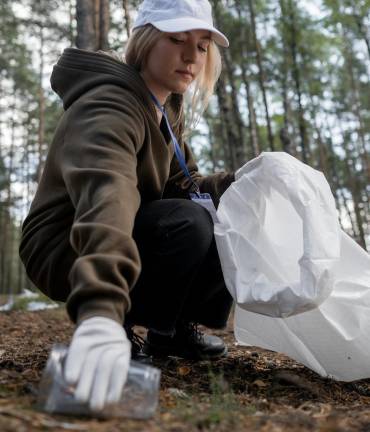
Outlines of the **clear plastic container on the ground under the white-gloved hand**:
{"label": "clear plastic container on the ground under the white-gloved hand", "polygon": [[128,417],[147,419],[158,406],[161,371],[149,365],[131,361],[127,381],[119,402],[109,404],[102,411],[91,411],[87,403],[74,397],[74,387],[63,377],[63,364],[68,347],[55,344],[43,376],[38,396],[40,409],[51,414],[87,415],[94,417]]}

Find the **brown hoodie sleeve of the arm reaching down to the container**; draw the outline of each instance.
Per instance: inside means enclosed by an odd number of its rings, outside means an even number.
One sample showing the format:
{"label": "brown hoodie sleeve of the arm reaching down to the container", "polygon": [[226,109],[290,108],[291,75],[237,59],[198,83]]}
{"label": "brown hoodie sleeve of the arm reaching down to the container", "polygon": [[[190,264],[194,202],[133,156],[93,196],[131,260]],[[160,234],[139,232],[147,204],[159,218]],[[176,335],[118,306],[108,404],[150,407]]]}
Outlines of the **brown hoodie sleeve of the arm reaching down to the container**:
{"label": "brown hoodie sleeve of the arm reaching down to the container", "polygon": [[60,166],[75,208],[70,242],[78,258],[67,300],[74,322],[100,315],[123,323],[129,288],[140,271],[132,231],[140,205],[136,154],[144,120],[130,95],[120,93],[81,98],[67,120]]}

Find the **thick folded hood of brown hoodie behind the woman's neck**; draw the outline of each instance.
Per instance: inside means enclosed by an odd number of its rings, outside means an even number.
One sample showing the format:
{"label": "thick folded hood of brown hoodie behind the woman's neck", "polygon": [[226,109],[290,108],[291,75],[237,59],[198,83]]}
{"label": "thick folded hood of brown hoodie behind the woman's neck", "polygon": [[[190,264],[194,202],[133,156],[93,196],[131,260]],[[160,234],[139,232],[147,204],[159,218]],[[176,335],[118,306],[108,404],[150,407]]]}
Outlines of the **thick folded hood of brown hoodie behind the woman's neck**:
{"label": "thick folded hood of brown hoodie behind the woman's neck", "polygon": [[150,92],[138,71],[106,54],[77,48],[65,49],[53,68],[50,83],[62,99],[65,110],[92,88],[113,84],[135,93],[155,115]]}

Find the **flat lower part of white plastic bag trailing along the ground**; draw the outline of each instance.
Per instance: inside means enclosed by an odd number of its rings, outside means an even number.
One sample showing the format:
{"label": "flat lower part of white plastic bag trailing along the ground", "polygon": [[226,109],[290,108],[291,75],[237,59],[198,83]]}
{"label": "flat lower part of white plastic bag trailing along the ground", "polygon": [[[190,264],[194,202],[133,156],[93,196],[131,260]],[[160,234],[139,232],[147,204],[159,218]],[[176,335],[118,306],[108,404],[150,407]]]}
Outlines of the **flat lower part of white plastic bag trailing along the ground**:
{"label": "flat lower part of white plastic bag trailing along the ground", "polygon": [[370,378],[370,257],[345,233],[333,271],[333,292],[312,311],[270,318],[237,306],[236,340],[284,353],[324,377]]}

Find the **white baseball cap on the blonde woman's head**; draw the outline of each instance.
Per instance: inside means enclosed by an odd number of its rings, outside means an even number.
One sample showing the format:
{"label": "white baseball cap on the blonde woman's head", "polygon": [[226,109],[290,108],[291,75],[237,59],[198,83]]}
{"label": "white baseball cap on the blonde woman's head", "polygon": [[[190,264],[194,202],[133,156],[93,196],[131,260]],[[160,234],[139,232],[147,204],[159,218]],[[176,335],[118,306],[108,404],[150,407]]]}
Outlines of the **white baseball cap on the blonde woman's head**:
{"label": "white baseball cap on the blonde woman's head", "polygon": [[168,33],[209,30],[218,45],[229,46],[227,37],[213,26],[208,0],[144,0],[133,29],[146,24]]}

